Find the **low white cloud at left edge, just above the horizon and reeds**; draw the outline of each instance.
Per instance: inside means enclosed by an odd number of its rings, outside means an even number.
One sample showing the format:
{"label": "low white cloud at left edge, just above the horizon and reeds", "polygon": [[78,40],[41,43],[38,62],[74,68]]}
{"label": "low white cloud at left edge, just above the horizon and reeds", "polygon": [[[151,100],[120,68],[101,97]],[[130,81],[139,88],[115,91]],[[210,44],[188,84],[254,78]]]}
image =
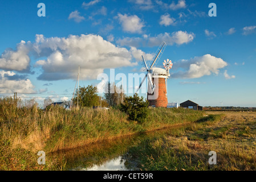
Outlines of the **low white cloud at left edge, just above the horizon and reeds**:
{"label": "low white cloud at left edge, just above the horizon and reeds", "polygon": [[[29,79],[13,79],[17,76],[11,71],[0,71],[0,92],[34,93],[34,85]],[[17,77],[16,77],[17,78]]]}

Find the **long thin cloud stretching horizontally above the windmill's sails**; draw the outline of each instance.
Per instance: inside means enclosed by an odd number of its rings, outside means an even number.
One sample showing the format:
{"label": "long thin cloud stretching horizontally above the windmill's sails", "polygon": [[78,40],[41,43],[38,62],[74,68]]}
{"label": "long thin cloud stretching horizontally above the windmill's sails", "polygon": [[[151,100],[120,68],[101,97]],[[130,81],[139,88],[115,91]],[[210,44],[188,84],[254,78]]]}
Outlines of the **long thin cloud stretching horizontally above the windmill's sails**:
{"label": "long thin cloud stretching horizontally above the windmill's sails", "polygon": [[186,31],[177,31],[173,32],[172,34],[165,32],[164,34],[158,34],[156,36],[145,36],[143,35],[141,38],[123,38],[118,39],[116,42],[121,46],[159,46],[162,41],[165,41],[166,44],[172,46],[173,44],[181,45],[187,44],[192,42],[195,38],[193,32],[186,32]]}

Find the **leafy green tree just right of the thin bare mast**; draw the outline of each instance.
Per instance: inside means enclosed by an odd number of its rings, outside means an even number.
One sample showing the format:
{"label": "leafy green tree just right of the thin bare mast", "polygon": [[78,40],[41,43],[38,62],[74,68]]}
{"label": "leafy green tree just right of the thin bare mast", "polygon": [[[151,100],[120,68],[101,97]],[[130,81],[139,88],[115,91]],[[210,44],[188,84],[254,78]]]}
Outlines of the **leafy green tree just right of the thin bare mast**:
{"label": "leafy green tree just right of the thin bare mast", "polygon": [[76,106],[78,104],[80,107],[99,106],[100,98],[97,95],[97,87],[92,85],[88,85],[87,87],[79,87],[79,103],[78,89],[76,89],[76,93],[73,98],[73,104],[72,106]]}

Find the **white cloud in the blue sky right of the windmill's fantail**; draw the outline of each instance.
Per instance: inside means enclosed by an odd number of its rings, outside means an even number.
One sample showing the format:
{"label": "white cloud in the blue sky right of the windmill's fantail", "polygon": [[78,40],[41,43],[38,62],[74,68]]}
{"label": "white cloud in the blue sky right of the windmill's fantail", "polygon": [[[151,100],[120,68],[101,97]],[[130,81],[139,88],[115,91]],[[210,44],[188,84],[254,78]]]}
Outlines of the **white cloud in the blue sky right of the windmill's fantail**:
{"label": "white cloud in the blue sky right of the windmill's fantail", "polygon": [[200,78],[205,75],[218,75],[221,68],[227,63],[221,58],[206,54],[201,57],[194,57],[190,60],[181,60],[173,64],[177,72],[172,74],[173,78]]}

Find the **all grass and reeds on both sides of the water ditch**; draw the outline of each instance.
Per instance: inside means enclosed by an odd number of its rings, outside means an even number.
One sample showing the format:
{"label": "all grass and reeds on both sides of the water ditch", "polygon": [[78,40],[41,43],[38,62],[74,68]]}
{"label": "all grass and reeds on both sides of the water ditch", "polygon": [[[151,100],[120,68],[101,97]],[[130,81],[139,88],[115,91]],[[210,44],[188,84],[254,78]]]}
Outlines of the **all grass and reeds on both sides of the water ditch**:
{"label": "all grass and reeds on both sides of the water ditch", "polygon": [[[65,159],[52,157],[40,166],[37,152],[48,154],[174,126],[179,127],[164,137],[133,146],[129,159],[136,159],[143,170],[256,169],[254,112],[151,108],[147,121],[137,123],[117,109],[42,110],[17,107],[7,99],[0,102],[0,169],[61,170]],[[208,164],[209,151],[217,152],[217,165]]]}

